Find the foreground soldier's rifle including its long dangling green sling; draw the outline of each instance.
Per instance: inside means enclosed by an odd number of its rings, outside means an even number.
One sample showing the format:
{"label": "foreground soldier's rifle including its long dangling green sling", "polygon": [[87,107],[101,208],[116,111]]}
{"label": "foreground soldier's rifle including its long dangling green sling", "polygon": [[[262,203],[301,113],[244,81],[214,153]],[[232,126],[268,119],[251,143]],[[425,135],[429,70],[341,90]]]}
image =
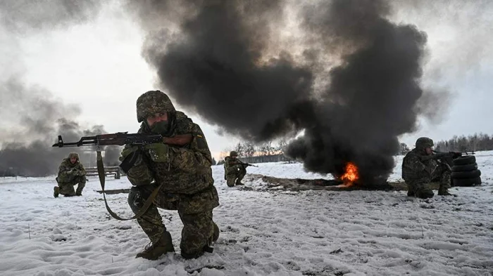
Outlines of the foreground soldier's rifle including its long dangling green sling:
{"label": "foreground soldier's rifle including its long dangling green sling", "polygon": [[[176,135],[173,137],[165,137],[161,136],[160,134],[143,134],[143,133],[130,133],[128,134],[127,132],[117,132],[117,133],[111,133],[111,134],[101,134],[101,135],[96,135],[96,136],[85,136],[80,138],[77,142],[72,142],[72,143],[65,143],[63,142],[63,139],[61,135],[58,136],[58,143],[55,143],[52,145],[52,147],[80,147],[84,145],[96,145],[96,165],[98,169],[98,176],[99,176],[99,182],[101,183],[101,190],[104,198],[104,204],[106,206],[106,210],[108,213],[110,213],[113,218],[116,218],[119,221],[128,221],[132,220],[134,218],[139,218],[142,216],[147,209],[149,209],[149,206],[154,202],[154,199],[158,195],[159,189],[161,188],[161,185],[158,186],[158,188],[155,188],[154,191],[151,193],[149,198],[144,202],[144,206],[135,213],[135,216],[132,216],[131,218],[120,218],[115,212],[111,211],[110,206],[108,206],[108,202],[106,202],[106,194],[104,192],[104,180],[105,180],[105,173],[104,173],[104,164],[103,164],[103,157],[101,156],[101,149],[100,145],[125,145],[125,144],[130,144],[130,145],[147,145],[151,143],[165,143],[168,145],[178,145],[178,146],[183,146],[187,145],[192,141],[192,134],[182,134],[182,135]],[[121,165],[120,165],[121,167]]]}

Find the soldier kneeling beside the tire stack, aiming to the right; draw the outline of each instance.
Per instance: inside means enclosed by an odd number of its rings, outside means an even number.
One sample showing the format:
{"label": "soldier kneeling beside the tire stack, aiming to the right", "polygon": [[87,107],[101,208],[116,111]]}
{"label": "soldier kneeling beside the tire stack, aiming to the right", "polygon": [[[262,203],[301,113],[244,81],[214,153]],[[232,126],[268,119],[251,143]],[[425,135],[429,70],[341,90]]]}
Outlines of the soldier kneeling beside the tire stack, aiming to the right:
{"label": "soldier kneeling beside the tire stack, aiming to the right", "polygon": [[433,140],[421,137],[416,140],[416,148],[408,152],[402,162],[402,178],[408,185],[408,196],[430,198],[433,191],[429,187],[432,180],[439,180],[438,195],[451,195],[451,169],[447,163],[437,163],[437,155],[432,152]]}

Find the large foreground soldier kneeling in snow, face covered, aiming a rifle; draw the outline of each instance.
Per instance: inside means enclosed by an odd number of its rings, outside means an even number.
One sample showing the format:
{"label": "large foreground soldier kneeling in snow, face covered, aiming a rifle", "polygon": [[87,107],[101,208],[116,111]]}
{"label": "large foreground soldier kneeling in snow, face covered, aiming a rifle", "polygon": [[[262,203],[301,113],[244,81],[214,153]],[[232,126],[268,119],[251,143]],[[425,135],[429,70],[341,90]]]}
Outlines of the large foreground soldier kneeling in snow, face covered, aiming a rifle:
{"label": "large foreground soldier kneeling in snow, face covered, aiming a rifle", "polygon": [[175,110],[161,91],[148,91],[137,98],[137,121],[142,123],[139,133],[165,137],[191,134],[192,140],[181,147],[166,143],[126,145],[122,151],[121,161],[126,162],[127,157],[133,160],[127,171],[133,185],[128,195],[132,211],[138,213],[153,191],[158,191],[149,209],[137,218],[151,242],[136,258],[156,260],[175,251],[158,208],[178,211],[183,223],[180,249],[184,258],[211,252],[211,243],[219,237],[212,212],[219,206],[219,197],[204,133],[187,115]]}

